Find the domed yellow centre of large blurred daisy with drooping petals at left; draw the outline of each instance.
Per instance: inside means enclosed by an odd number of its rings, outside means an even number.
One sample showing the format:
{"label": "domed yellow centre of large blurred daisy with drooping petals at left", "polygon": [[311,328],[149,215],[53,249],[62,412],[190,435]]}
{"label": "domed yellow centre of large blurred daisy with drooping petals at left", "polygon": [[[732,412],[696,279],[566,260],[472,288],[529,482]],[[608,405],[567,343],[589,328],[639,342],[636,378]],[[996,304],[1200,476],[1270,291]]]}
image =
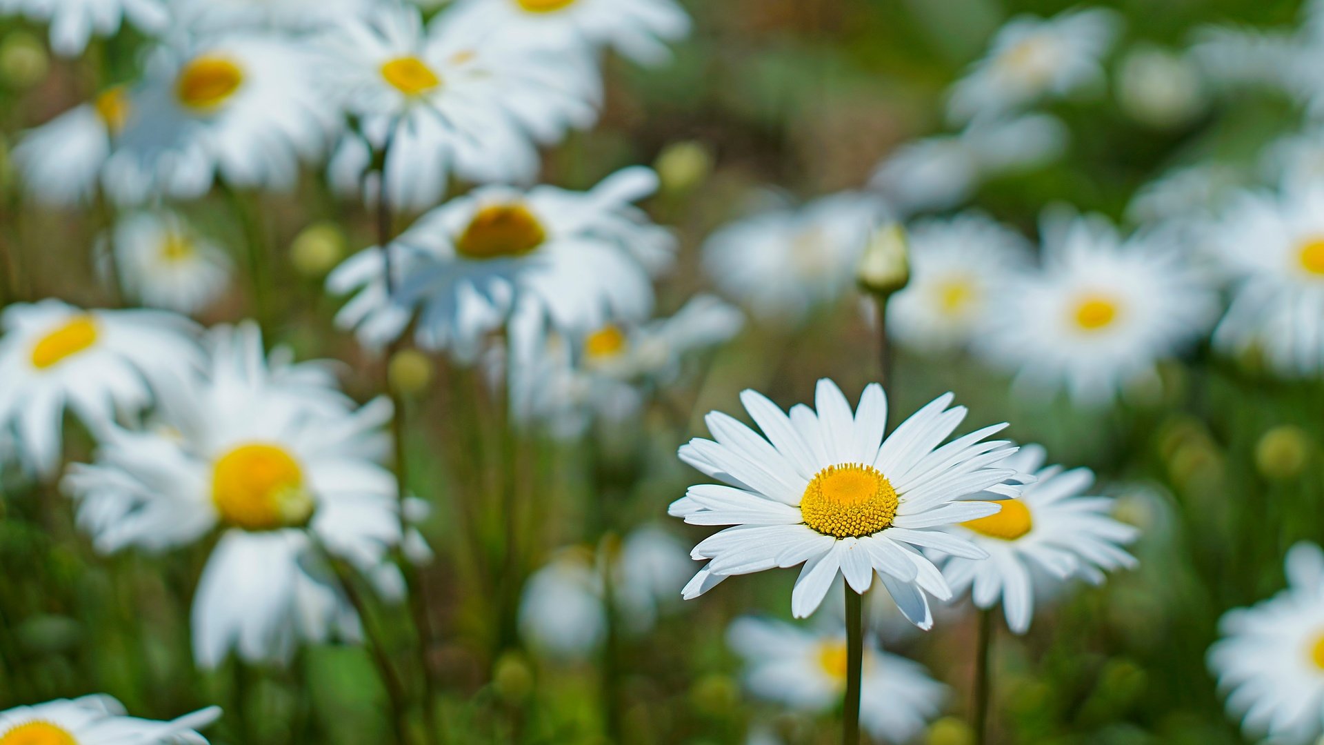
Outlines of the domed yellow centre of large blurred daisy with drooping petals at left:
{"label": "domed yellow centre of large blurred daisy with drooping petals at left", "polygon": [[315,506],[294,456],[263,443],[240,445],[216,460],[212,501],[221,520],[245,530],[303,525]]}

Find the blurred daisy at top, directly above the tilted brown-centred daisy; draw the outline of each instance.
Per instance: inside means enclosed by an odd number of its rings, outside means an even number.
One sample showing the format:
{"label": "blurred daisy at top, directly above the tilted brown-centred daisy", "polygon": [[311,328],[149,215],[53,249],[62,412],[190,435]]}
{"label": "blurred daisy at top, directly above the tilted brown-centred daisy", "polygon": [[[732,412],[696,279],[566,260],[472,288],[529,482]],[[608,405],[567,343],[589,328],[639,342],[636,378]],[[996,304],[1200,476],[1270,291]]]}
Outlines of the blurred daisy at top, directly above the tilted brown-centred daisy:
{"label": "blurred daisy at top, directly above the tilted brown-centred daisy", "polygon": [[[361,131],[342,139],[332,183],[357,194],[372,154],[385,148],[393,207],[433,207],[451,174],[479,183],[530,182],[538,144],[597,119],[601,81],[588,57],[512,44],[453,12],[425,30],[417,8],[389,4],[342,24],[323,46],[323,82]],[[369,199],[377,180],[371,174]]]}

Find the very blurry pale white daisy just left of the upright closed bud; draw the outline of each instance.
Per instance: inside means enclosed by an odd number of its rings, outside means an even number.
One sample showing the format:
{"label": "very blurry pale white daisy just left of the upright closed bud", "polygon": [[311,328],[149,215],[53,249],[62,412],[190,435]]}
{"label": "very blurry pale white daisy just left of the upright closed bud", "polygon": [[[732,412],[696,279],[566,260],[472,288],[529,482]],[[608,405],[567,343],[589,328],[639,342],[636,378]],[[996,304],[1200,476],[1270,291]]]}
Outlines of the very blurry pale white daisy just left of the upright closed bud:
{"label": "very blurry pale white daisy just left of the upright closed bud", "polygon": [[886,207],[843,192],[732,223],[703,244],[703,268],[755,315],[804,321],[855,286],[855,268]]}

